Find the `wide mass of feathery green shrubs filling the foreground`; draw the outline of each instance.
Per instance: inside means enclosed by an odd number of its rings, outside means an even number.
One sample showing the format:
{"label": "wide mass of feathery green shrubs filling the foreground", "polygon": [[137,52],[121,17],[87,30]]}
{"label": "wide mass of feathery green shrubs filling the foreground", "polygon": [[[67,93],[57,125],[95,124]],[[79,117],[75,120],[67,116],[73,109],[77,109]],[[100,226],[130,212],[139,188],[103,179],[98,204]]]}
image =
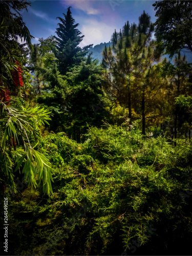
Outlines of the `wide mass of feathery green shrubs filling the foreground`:
{"label": "wide mass of feathery green shrubs filling the foreground", "polygon": [[91,127],[86,137],[79,144],[58,133],[38,144],[55,166],[54,194],[17,205],[18,199],[12,201],[16,223],[21,224],[16,217],[21,205],[33,216],[30,228],[16,237],[22,246],[15,251],[117,255],[132,253],[136,240],[137,252],[156,254],[157,248],[175,251],[178,238],[189,242],[191,197],[182,195],[190,184],[191,144],[182,140],[173,147],[163,137],[142,140],[137,125]]}

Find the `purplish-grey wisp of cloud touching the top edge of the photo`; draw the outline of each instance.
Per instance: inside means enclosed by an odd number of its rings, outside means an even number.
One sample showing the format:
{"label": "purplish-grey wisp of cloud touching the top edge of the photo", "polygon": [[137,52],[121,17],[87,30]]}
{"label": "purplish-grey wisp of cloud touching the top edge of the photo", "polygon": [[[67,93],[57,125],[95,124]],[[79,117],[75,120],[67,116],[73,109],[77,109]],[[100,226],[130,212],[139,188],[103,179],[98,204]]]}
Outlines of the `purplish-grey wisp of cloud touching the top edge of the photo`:
{"label": "purplish-grey wisp of cloud touching the top edge of the photo", "polygon": [[94,1],[65,0],[65,1],[61,1],[61,3],[65,4],[65,5],[69,5],[69,6],[71,5],[76,9],[86,12],[87,14],[97,15],[100,13],[99,9],[96,9],[93,7]]}

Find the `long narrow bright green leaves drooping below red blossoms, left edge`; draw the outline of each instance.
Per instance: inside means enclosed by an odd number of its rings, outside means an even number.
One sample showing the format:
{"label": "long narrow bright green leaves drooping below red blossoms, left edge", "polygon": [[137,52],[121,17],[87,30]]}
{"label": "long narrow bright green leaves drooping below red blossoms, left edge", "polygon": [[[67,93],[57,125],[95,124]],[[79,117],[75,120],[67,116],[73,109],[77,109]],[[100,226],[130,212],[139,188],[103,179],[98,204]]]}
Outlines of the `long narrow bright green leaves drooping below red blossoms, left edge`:
{"label": "long narrow bright green leaves drooping below red blossoms, left edge", "polygon": [[[15,139],[18,141],[18,135],[23,137],[24,148],[26,149],[25,153],[23,152],[19,157],[17,154],[17,158],[16,153],[14,153],[14,151],[11,152],[9,148],[9,153],[12,158],[16,158],[15,172],[25,161],[22,172],[25,174],[25,179],[29,184],[35,187],[37,185],[35,177],[37,176],[38,182],[43,182],[44,193],[47,193],[48,195],[50,195],[50,193],[52,194],[51,181],[53,181],[53,179],[51,175],[51,164],[43,154],[35,151],[31,147],[27,136],[29,132],[31,135],[39,135],[38,126],[45,122],[48,123],[47,120],[50,119],[48,116],[49,113],[46,110],[41,109],[40,106],[33,109],[23,108],[22,110],[17,110],[12,106],[3,104],[3,110],[5,117],[0,120],[2,124],[5,123],[5,129],[1,139],[3,151],[6,151],[6,143],[8,141],[8,144],[10,144],[11,137],[14,138],[14,141]],[[13,163],[9,161],[9,163],[6,163],[5,165],[6,173],[8,175],[10,172],[9,168],[10,166],[13,166]],[[12,168],[11,171],[13,171]]]}

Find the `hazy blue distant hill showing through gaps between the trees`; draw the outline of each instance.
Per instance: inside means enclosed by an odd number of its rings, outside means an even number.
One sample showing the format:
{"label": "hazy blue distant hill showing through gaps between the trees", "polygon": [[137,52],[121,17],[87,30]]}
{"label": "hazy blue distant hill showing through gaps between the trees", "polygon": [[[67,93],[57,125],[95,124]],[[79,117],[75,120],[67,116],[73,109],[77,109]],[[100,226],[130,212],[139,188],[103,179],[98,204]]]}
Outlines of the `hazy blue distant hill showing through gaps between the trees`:
{"label": "hazy blue distant hill showing through gaps between the trees", "polygon": [[[112,46],[113,44],[112,44],[111,41],[109,41],[109,42],[101,42],[100,45],[96,45],[96,46],[94,46],[94,47],[91,47],[90,50],[89,50],[89,52],[92,52],[92,53],[93,53],[93,54],[92,54],[92,57],[93,57],[94,59],[98,59],[99,62],[102,61],[102,55],[101,55],[101,53],[103,52],[103,49],[104,49],[105,45],[106,45],[106,47],[109,47],[109,46]],[[186,51],[186,50],[181,51],[181,55],[184,55],[184,54],[185,54],[185,56],[186,56],[187,62],[188,62],[188,63],[192,63],[192,53],[191,53],[191,51]],[[172,61],[171,61],[172,63],[174,63],[173,60],[175,59],[175,56],[176,56],[176,55],[174,55],[173,58],[172,58]],[[166,57],[166,58],[169,59],[169,55],[168,55],[168,54],[162,56],[162,58],[164,58],[164,57]]]}

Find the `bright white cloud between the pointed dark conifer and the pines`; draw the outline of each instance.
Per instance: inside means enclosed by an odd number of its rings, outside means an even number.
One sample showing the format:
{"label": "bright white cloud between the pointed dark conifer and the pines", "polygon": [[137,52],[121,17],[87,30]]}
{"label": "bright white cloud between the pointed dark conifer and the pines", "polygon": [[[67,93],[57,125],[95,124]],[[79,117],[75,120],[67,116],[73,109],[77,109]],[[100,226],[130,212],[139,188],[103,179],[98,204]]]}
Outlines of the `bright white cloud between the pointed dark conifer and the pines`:
{"label": "bright white cloud between the pointed dark conifer and the pines", "polygon": [[84,38],[80,46],[83,47],[90,44],[97,45],[104,41],[110,41],[114,28],[103,22],[98,22],[95,19],[87,19],[85,24],[81,27],[81,32]]}

